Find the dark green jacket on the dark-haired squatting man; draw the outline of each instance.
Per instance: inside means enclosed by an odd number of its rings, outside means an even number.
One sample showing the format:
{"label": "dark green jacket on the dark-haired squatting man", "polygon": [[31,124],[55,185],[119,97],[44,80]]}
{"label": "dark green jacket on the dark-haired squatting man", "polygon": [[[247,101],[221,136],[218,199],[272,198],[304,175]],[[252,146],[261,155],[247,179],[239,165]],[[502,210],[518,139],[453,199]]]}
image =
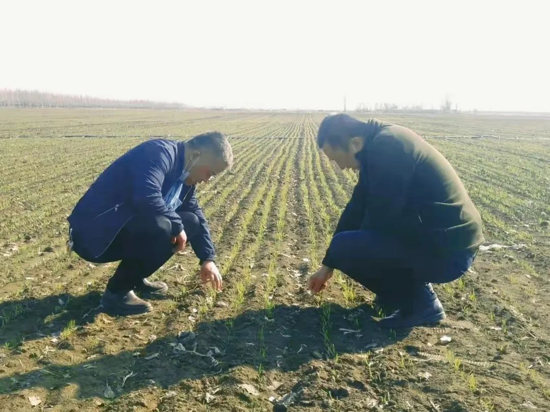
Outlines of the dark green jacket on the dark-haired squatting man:
{"label": "dark green jacket on the dark-haired squatting man", "polygon": [[414,131],[368,120],[356,157],[359,181],[335,233],[373,229],[445,256],[485,241],[481,217],[458,174]]}

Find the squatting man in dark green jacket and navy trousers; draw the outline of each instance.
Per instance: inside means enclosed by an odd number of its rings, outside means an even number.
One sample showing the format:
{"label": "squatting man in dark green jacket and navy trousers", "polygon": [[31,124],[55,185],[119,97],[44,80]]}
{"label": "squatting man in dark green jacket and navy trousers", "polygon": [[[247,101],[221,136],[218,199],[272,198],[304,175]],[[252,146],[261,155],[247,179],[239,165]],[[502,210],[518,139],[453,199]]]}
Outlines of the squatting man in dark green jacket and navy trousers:
{"label": "squatting man in dark green jacket and navy trousers", "polygon": [[433,283],[462,276],[485,239],[481,217],[458,174],[414,131],[346,114],[323,119],[318,146],[359,181],[310,289],[326,287],[338,269],[376,293],[390,328],[445,317]]}

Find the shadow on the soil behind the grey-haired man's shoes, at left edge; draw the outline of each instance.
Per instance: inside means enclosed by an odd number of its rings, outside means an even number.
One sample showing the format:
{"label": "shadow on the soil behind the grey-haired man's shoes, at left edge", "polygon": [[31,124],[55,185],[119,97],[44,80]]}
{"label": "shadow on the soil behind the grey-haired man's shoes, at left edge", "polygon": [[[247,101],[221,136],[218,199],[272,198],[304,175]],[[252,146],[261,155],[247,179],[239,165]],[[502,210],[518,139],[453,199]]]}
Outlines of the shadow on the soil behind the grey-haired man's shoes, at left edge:
{"label": "shadow on the soil behind the grey-haired man's shoes, at left edge", "polygon": [[94,322],[101,294],[92,291],[81,296],[67,293],[32,297],[0,303],[0,346],[15,349],[20,343],[55,338],[69,322],[74,326]]}

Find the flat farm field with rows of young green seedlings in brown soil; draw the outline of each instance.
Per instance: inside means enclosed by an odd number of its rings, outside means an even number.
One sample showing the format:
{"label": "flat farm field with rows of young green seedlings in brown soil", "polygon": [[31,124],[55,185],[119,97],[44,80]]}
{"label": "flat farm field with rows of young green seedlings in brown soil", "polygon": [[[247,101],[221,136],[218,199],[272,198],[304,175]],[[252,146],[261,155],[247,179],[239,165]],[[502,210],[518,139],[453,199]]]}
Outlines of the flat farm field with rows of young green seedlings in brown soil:
{"label": "flat farm field with rows of young green seedlings in brown soil", "polygon": [[[532,139],[550,138],[550,118],[377,116],[447,156],[493,245],[435,285],[441,325],[387,331],[343,274],[307,292],[357,179],[317,150],[324,116],[2,109],[0,409],[550,410],[550,141]],[[171,287],[155,311],[101,313],[116,263],[68,254],[65,218],[130,147],[213,129],[235,156],[197,186],[223,292],[201,287],[186,248],[153,275]],[[529,140],[435,138],[465,135]]]}

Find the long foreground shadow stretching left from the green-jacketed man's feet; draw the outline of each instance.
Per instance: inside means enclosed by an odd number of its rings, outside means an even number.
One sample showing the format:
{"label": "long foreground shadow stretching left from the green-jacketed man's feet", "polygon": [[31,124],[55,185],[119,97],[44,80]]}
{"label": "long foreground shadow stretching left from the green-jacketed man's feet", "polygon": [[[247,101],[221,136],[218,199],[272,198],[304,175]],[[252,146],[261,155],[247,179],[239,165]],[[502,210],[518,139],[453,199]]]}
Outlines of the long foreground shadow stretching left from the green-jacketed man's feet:
{"label": "long foreground shadow stretching left from the green-jacketed man's feet", "polygon": [[[98,301],[97,296],[86,296],[80,299]],[[88,302],[82,307],[91,306]],[[375,314],[370,305],[328,307],[329,312],[327,306],[276,306],[271,314],[248,310],[236,317],[199,323],[196,337],[174,333],[141,350],[92,354],[78,364],[56,365],[44,359],[39,362],[42,369],[0,378],[0,394],[75,383],[81,397],[103,397],[109,383],[117,396],[150,385],[167,388],[186,379],[223,374],[241,365],[257,371],[295,371],[316,358],[366,353],[408,334],[379,328],[371,320]]]}

